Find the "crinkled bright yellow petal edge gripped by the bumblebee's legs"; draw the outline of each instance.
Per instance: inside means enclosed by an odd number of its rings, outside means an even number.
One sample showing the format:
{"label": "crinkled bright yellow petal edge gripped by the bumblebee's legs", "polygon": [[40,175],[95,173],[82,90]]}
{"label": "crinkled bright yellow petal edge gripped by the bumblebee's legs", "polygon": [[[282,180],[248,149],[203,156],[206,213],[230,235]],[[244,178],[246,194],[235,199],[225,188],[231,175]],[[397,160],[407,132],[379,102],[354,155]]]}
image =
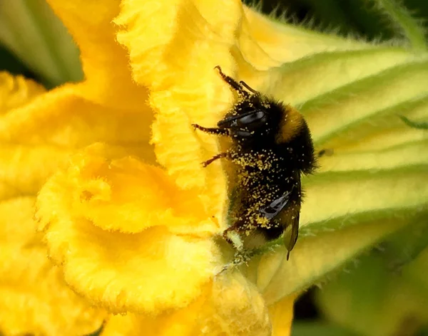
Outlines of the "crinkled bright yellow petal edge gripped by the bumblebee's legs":
{"label": "crinkled bright yellow petal edge gripped by the bumblebee's legs", "polygon": [[[225,179],[220,163],[200,165],[218,153],[217,142],[190,124],[213,126],[228,108],[232,93],[213,68],[221,65],[230,73],[230,46],[242,5],[230,0],[122,4],[118,41],[128,48],[133,78],[151,90],[158,162],[179,187],[198,189],[206,206],[221,213]],[[228,15],[210,15],[220,11]]]}

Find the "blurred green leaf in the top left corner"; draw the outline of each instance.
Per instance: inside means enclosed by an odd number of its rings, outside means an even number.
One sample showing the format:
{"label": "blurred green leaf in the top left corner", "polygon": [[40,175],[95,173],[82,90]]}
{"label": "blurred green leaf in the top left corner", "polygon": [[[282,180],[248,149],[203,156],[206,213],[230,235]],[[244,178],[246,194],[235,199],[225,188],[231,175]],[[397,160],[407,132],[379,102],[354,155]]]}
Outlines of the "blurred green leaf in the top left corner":
{"label": "blurred green leaf in the top left corner", "polygon": [[0,3],[0,43],[49,88],[83,78],[78,48],[45,0]]}

